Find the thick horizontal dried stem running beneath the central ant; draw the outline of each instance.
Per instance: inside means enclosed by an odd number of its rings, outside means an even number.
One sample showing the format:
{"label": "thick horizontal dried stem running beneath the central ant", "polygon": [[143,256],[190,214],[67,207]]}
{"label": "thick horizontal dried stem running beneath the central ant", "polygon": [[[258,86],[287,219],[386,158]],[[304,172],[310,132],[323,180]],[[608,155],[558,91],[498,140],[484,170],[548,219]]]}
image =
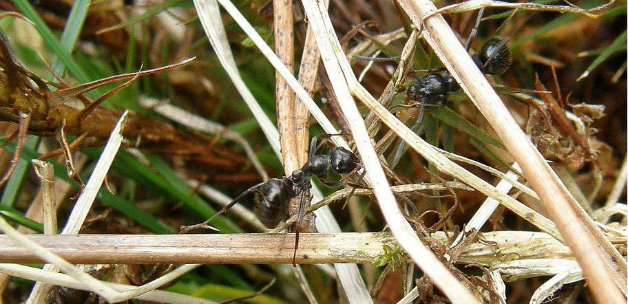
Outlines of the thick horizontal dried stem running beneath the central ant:
{"label": "thick horizontal dried stem running beneath the central ant", "polygon": [[[448,232],[450,235],[452,232]],[[432,237],[447,242],[443,232]],[[71,263],[291,263],[294,234],[32,235],[34,242]],[[616,237],[614,241],[625,241]],[[41,257],[0,235],[0,263],[40,263]],[[385,232],[304,233],[297,263],[370,263],[397,246]],[[494,231],[479,234],[459,263],[491,265],[530,259],[573,259],[569,248],[547,233]]]}

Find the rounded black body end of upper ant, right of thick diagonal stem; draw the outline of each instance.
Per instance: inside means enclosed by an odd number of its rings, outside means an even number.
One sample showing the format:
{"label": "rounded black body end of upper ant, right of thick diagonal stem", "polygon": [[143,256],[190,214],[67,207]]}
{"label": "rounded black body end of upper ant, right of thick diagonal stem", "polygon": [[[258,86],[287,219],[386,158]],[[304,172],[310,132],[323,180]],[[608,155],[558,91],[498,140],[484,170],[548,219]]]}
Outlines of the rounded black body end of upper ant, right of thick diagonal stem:
{"label": "rounded black body end of upper ant, right of thick diagonal stem", "polygon": [[504,74],[512,65],[512,56],[506,45],[507,39],[493,37],[484,43],[480,52],[473,55],[473,61],[484,74]]}

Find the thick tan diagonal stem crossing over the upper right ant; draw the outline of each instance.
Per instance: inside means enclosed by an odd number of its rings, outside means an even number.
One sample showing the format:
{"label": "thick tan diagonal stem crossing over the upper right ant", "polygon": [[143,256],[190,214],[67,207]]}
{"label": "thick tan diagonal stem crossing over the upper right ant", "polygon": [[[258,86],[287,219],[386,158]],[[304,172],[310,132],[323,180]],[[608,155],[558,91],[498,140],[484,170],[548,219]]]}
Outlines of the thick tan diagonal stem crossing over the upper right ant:
{"label": "thick tan diagonal stem crossing over the upper right ant", "polygon": [[574,250],[596,301],[625,302],[625,260],[567,192],[541,153],[521,131],[446,21],[439,15],[423,20],[423,16],[436,10],[434,4],[426,0],[400,0],[399,3],[417,27],[425,26],[423,36],[426,41],[520,164],[527,181],[540,197],[541,205]]}

